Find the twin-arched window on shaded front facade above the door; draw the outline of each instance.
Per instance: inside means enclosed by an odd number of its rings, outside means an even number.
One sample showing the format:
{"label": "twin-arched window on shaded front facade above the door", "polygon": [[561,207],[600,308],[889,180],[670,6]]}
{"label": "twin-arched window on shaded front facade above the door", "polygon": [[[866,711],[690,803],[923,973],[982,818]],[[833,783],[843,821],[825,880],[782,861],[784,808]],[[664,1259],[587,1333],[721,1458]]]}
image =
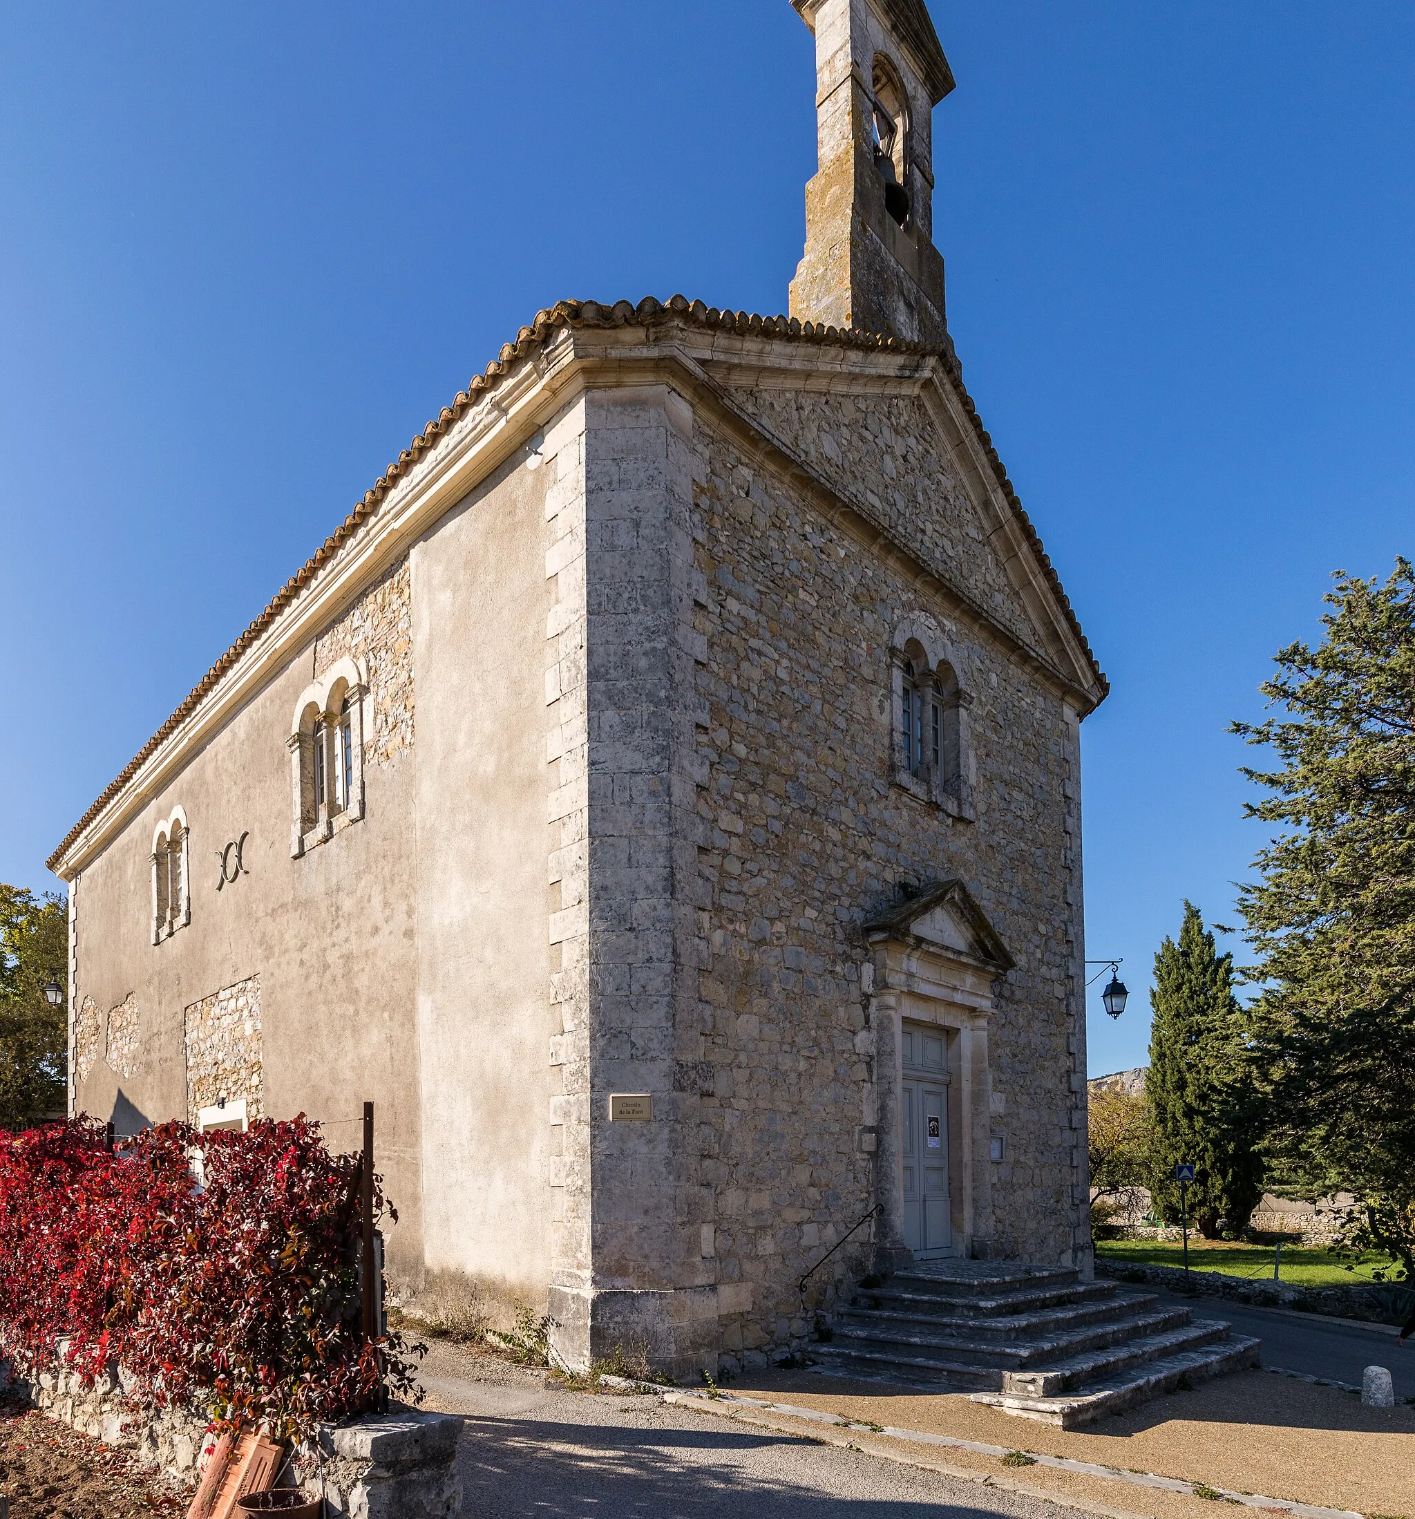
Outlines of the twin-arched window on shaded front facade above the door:
{"label": "twin-arched window on shaded front facade above the door", "polygon": [[931,620],[909,620],[891,649],[894,784],[972,822],[967,741],[972,697],[960,681],[960,659]]}

